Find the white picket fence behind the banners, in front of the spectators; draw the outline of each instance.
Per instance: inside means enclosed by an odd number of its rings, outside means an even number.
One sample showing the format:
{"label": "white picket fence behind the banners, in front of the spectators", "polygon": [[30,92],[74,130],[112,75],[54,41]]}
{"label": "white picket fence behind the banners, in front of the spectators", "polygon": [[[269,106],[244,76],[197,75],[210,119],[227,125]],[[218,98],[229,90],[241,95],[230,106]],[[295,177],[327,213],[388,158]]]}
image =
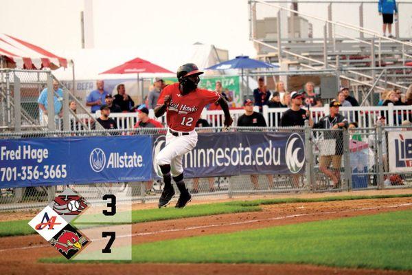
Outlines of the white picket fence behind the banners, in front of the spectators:
{"label": "white picket fence behind the banners, in front of the spectators", "polygon": [[[280,126],[279,120],[282,117],[282,113],[286,110],[286,108],[268,108],[267,106],[264,106],[263,115],[268,126]],[[255,111],[258,111],[258,107],[255,107]],[[316,122],[319,118],[329,114],[329,107],[312,107],[310,111],[313,120]],[[374,126],[380,115],[384,115],[385,118],[387,118],[386,123],[389,126],[400,126],[402,121],[410,120],[412,118],[412,106],[393,106],[392,104],[385,107],[341,107],[340,112],[345,115],[350,122],[357,121],[358,126],[361,128]],[[244,114],[244,110],[233,109],[230,113],[234,121],[233,125],[236,125],[240,115]],[[95,118],[98,118],[100,112],[97,112],[94,115]],[[150,118],[155,118],[153,110],[150,110],[149,116]],[[133,126],[139,120],[137,113],[111,113],[110,117],[117,122],[119,129],[133,129]],[[214,127],[222,126],[225,120],[225,115],[222,110],[209,111],[204,109],[201,117]],[[156,119],[165,125],[165,115]],[[89,116],[80,114],[78,115],[78,120],[73,116],[70,118],[72,129],[74,131],[84,129],[79,120],[87,125],[89,129],[93,128],[94,122],[89,119]]]}

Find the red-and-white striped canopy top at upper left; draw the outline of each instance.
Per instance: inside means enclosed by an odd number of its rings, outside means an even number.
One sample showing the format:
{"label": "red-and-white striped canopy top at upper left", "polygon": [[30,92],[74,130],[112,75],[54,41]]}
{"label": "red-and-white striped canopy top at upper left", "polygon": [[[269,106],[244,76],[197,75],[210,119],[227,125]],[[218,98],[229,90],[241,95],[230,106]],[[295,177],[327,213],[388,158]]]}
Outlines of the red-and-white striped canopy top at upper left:
{"label": "red-and-white striped canopy top at upper left", "polygon": [[58,69],[72,63],[66,58],[8,34],[0,34],[0,68]]}

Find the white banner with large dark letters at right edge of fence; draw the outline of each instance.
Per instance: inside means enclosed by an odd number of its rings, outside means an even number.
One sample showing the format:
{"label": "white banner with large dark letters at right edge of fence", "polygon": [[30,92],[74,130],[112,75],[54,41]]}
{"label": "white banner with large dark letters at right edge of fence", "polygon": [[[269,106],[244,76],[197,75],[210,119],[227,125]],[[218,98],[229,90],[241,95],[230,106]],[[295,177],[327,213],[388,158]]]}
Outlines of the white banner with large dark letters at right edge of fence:
{"label": "white banner with large dark letters at right edge of fence", "polygon": [[390,172],[412,171],[412,131],[388,132]]}

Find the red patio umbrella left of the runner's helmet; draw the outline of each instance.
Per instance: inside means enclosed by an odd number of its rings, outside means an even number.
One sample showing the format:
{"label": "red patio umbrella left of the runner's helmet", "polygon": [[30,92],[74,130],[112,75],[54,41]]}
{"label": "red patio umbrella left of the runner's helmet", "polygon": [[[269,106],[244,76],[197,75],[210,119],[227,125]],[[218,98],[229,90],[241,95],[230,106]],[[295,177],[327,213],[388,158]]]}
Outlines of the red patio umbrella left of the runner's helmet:
{"label": "red patio umbrella left of the runner's helmet", "polygon": [[[150,63],[149,61],[145,61],[141,58],[135,58],[131,61],[127,61],[122,65],[114,67],[112,69],[108,69],[106,72],[102,72],[100,74],[137,74],[137,88],[139,87],[139,74],[156,74],[156,73],[167,73],[173,74],[168,69]],[[141,93],[141,99],[143,100],[143,90]]]}

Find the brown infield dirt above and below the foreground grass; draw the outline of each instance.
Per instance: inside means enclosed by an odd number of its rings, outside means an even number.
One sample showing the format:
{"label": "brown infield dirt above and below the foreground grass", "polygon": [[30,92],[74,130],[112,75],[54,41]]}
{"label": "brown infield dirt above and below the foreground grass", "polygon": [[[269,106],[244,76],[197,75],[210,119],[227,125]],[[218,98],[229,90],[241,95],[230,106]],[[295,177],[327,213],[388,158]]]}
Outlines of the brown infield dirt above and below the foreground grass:
{"label": "brown infield dirt above and below the foreground grass", "polygon": [[[341,194],[342,195],[342,194]],[[304,223],[411,210],[412,198],[365,199],[317,203],[287,203],[263,206],[262,212],[220,214],[133,225],[133,243],[179,239],[253,228]],[[56,251],[41,236],[14,236],[0,239],[1,274],[412,274],[388,270],[354,270],[312,265],[258,264],[45,264],[37,259],[56,256]]]}

